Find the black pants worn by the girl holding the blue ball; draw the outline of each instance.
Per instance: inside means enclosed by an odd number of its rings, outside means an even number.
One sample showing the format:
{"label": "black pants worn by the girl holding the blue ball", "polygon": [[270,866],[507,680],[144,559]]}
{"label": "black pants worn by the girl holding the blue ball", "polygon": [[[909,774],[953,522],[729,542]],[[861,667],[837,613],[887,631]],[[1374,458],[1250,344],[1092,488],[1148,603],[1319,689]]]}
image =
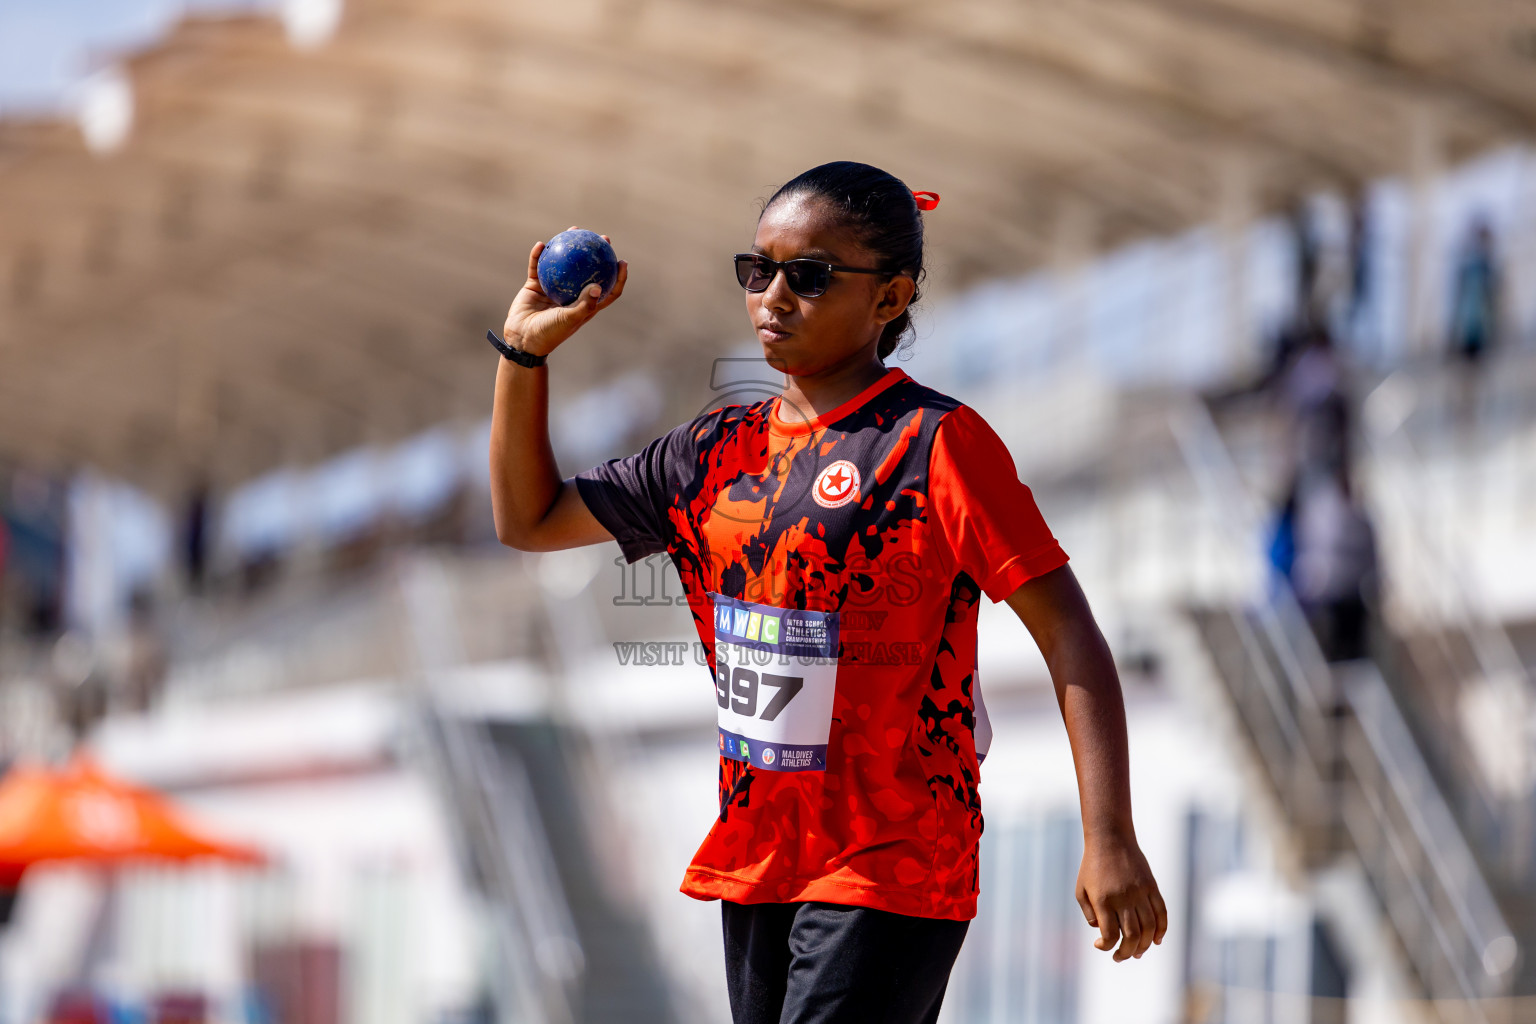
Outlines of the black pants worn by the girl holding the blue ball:
{"label": "black pants worn by the girl holding the blue ball", "polygon": [[720,901],[736,1024],[932,1024],[969,921]]}

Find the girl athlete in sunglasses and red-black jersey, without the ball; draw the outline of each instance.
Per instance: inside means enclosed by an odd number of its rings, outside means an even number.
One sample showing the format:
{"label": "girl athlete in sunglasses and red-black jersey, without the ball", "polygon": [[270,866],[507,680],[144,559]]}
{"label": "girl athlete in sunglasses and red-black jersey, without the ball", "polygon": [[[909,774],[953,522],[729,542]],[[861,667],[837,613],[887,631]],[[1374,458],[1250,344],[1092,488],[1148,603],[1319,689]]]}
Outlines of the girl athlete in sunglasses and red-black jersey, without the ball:
{"label": "girl athlete in sunglasses and red-black jersey, without the ball", "polygon": [[1130,823],[1120,680],[1066,554],[991,427],[883,362],[923,278],[919,200],[846,161],[779,189],[736,276],[783,395],[573,479],[550,450],[548,370],[524,362],[614,302],[628,267],[607,298],[559,307],[535,246],[507,313],[521,361],[496,375],[498,536],[667,551],[710,656],[720,814],[682,890],[722,901],[736,1024],[938,1016],[975,917],[982,594],[1018,614],[1055,683],[1094,944],[1121,961],[1167,930]]}

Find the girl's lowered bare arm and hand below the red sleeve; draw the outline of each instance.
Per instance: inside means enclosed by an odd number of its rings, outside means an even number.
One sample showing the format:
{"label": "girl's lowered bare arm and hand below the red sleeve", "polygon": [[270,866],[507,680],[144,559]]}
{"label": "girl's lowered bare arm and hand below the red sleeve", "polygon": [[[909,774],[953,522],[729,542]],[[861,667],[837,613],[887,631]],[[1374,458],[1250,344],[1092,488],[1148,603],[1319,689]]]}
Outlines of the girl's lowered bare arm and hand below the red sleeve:
{"label": "girl's lowered bare arm and hand below the red sleeve", "polygon": [[1167,906],[1130,823],[1130,755],[1120,676],[1071,567],[1023,583],[1008,605],[1051,669],[1083,811],[1077,903],[1115,960],[1140,958],[1167,932]]}

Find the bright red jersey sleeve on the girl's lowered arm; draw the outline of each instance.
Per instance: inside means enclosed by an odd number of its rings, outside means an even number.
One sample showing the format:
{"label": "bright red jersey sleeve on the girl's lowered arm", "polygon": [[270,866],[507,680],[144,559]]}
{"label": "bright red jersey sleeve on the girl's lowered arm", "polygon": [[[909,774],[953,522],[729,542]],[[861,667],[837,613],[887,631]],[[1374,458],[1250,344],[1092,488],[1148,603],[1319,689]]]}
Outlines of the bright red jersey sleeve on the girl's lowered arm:
{"label": "bright red jersey sleeve on the girl's lowered arm", "polygon": [[1014,456],[975,410],[962,405],[940,421],[928,473],[929,510],[955,570],[994,602],[1066,565]]}

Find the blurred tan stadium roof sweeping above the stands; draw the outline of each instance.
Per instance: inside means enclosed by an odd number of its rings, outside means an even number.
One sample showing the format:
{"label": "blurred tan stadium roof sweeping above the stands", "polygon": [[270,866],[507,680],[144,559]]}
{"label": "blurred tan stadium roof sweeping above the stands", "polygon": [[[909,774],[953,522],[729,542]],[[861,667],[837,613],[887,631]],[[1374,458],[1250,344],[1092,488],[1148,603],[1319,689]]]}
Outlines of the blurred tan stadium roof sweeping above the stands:
{"label": "blurred tan stadium roof sweeping above the stands", "polygon": [[169,490],[484,415],[571,223],[631,284],[562,388],[743,338],[725,255],[823,160],[943,193],[945,290],[1528,138],[1536,3],[353,0],[126,74],[111,152],[0,121],[0,456]]}

